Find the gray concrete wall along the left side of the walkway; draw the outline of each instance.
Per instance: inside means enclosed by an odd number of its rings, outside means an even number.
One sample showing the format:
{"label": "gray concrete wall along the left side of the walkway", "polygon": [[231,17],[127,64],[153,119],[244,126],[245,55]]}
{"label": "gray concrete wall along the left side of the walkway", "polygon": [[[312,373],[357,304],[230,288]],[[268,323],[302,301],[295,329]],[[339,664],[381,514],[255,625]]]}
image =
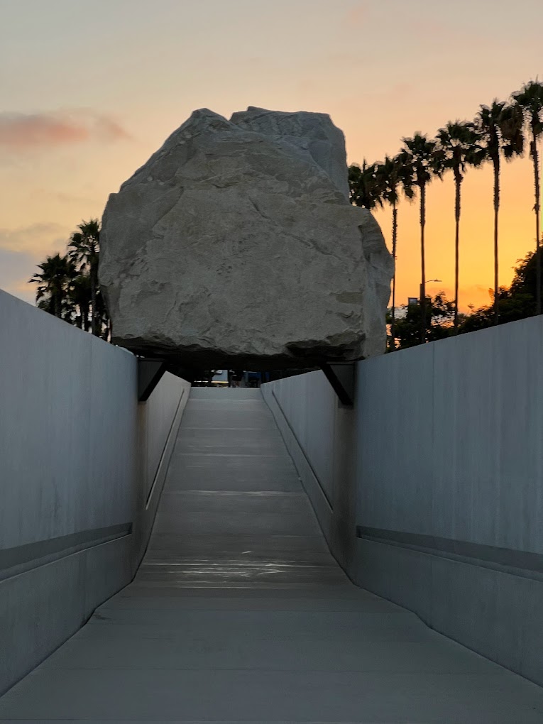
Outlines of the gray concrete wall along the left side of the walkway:
{"label": "gray concrete wall along the left side of the walkway", "polygon": [[1,693],[130,582],[189,385],[1,291],[0,370]]}

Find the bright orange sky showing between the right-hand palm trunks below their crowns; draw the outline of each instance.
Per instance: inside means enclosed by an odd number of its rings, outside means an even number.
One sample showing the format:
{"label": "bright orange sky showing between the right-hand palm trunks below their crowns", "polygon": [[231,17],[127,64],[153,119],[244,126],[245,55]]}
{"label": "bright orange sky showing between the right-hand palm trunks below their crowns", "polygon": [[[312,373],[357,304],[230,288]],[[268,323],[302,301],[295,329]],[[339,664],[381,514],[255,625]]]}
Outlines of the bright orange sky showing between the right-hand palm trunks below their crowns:
{"label": "bright orange sky showing between the right-hand palm trunks below their crowns", "polygon": [[[519,258],[535,249],[534,198],[531,185],[531,161],[516,159],[502,169],[500,204],[500,286],[508,287]],[[469,169],[462,189],[460,219],[460,310],[468,312],[468,304],[476,307],[492,302],[489,289],[494,289],[494,211],[493,178],[490,167]],[[386,207],[378,209],[381,224],[390,248],[392,214]],[[421,275],[420,227],[418,198],[399,206],[397,243],[397,303],[418,296]],[[455,273],[454,184],[449,174],[429,186],[426,205],[426,278],[442,279],[426,285],[434,295],[445,291],[454,298]]]}

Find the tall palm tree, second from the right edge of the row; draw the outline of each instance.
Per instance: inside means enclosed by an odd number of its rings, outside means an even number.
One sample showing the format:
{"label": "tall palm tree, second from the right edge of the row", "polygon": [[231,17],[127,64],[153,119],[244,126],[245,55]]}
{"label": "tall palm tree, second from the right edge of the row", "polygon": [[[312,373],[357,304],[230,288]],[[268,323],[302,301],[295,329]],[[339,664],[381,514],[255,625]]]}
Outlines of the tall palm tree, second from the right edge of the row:
{"label": "tall palm tree, second from the right edge of the row", "polygon": [[500,167],[502,155],[506,161],[523,151],[522,122],[518,109],[504,101],[492,101],[492,106],[480,106],[475,119],[479,149],[475,165],[490,161],[494,169],[494,324],[500,321],[498,299],[498,222],[500,215]]}

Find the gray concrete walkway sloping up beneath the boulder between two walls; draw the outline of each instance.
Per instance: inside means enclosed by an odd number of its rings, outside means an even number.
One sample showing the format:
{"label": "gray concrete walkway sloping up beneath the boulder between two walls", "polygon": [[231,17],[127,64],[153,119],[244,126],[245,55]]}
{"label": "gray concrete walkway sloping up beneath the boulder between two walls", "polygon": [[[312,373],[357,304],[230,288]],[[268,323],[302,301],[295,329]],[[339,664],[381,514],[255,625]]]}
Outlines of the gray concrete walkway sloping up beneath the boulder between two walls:
{"label": "gray concrete walkway sloping up beneath the boulder between two walls", "polygon": [[194,390],[135,581],[0,720],[541,724],[543,689],[350,584],[259,392]]}

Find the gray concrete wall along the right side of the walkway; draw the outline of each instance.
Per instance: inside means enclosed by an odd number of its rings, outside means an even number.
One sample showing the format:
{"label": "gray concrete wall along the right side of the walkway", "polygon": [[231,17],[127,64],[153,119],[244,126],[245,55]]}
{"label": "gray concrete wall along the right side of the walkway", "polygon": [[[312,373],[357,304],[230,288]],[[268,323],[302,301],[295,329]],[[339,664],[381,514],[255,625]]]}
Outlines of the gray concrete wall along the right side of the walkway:
{"label": "gray concrete wall along the right side of the walkway", "polygon": [[[338,559],[361,586],[543,684],[543,317],[357,373],[353,411],[321,373],[264,389],[304,484],[306,441],[334,460],[332,510],[316,510],[325,532],[347,526],[342,548],[328,534]],[[342,498],[353,514],[334,510]]]}

